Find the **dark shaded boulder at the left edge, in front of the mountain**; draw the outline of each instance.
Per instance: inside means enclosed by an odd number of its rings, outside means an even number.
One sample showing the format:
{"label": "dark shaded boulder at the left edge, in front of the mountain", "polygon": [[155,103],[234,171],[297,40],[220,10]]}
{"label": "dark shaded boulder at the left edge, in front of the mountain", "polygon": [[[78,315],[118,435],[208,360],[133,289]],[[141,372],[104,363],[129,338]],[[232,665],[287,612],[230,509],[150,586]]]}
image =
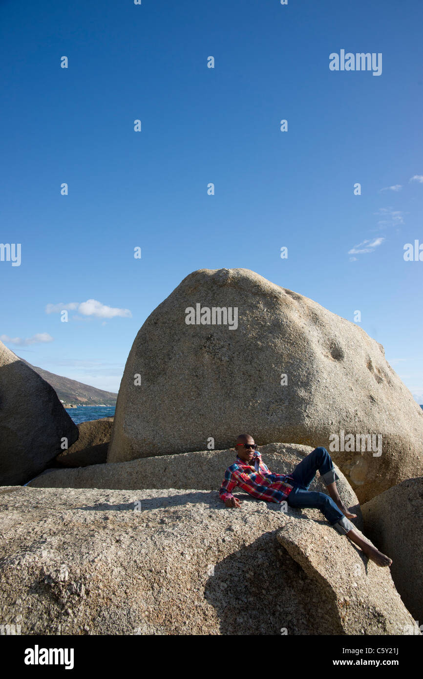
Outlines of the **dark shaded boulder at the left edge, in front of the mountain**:
{"label": "dark shaded boulder at the left edge, in front of the mountain", "polygon": [[0,484],[26,483],[77,437],[52,386],[0,342]]}

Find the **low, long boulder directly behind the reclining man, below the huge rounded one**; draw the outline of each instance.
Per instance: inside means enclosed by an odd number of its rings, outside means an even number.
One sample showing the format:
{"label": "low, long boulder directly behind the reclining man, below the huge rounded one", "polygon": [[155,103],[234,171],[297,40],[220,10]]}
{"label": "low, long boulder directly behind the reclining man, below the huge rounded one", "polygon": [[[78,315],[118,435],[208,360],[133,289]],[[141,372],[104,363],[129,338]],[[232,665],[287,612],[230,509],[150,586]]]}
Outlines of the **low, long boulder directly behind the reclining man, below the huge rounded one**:
{"label": "low, long boulder directly behind the reclining man, below the huge rounded one", "polygon": [[[260,448],[263,462],[276,474],[289,474],[295,466],[312,452],[306,445],[270,443]],[[153,458],[139,458],[130,462],[95,464],[84,469],[46,470],[33,479],[33,488],[109,488],[137,490],[140,488],[167,488],[218,491],[225,469],[235,461],[234,450],[206,450],[196,453],[162,455]],[[356,494],[335,465],[339,480],[337,489],[342,500],[356,519],[352,523],[363,529],[363,519]],[[238,488],[240,492],[243,492]],[[316,474],[310,490],[327,493],[325,483]],[[320,518],[323,515],[320,514]]]}

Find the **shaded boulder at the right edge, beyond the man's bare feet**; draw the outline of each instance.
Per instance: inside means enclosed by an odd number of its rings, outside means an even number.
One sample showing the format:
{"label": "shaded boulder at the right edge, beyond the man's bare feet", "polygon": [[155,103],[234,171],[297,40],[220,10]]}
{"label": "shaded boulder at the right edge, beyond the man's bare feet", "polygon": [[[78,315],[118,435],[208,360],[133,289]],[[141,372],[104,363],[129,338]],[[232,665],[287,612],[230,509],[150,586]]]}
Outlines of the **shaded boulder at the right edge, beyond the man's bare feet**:
{"label": "shaded boulder at the right edge, beyond the man's bare feet", "polygon": [[405,606],[423,624],[423,478],[402,481],[363,504],[365,533],[392,559]]}

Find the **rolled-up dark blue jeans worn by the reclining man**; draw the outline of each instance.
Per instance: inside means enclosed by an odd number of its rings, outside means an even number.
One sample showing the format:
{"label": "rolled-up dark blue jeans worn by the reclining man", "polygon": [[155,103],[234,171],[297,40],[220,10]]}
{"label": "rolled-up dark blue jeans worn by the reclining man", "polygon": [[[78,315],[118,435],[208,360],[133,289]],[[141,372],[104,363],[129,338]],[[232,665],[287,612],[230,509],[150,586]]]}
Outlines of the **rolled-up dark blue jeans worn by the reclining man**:
{"label": "rolled-up dark blue jeans worn by the reclining man", "polygon": [[333,502],[332,498],[325,493],[319,493],[308,490],[310,483],[316,476],[316,471],[320,472],[320,476],[326,485],[339,479],[335,472],[331,456],[326,448],[320,447],[313,450],[304,460],[301,460],[295,467],[292,476],[293,481],[287,479],[288,483],[293,485],[287,503],[289,507],[299,507],[305,509],[310,507],[312,509],[320,509],[325,515],[329,524],[342,535],[348,533],[354,528],[354,525],[348,521],[347,517]]}

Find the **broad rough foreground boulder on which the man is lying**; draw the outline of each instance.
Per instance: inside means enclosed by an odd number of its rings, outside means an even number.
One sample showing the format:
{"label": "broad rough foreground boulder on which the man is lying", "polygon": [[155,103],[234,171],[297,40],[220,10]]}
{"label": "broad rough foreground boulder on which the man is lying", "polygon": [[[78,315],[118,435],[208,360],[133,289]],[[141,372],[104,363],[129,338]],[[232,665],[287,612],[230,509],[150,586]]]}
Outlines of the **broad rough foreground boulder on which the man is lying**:
{"label": "broad rough foreground boulder on which the man is lying", "polygon": [[242,500],[0,489],[1,621],[26,635],[415,633],[390,569],[318,512]]}

